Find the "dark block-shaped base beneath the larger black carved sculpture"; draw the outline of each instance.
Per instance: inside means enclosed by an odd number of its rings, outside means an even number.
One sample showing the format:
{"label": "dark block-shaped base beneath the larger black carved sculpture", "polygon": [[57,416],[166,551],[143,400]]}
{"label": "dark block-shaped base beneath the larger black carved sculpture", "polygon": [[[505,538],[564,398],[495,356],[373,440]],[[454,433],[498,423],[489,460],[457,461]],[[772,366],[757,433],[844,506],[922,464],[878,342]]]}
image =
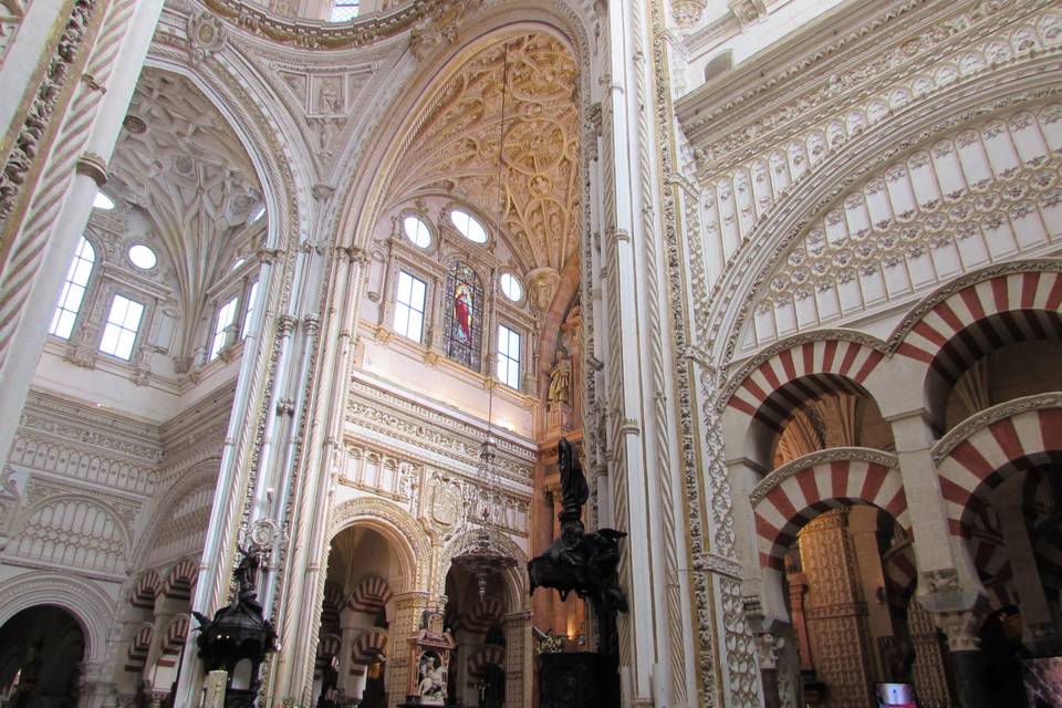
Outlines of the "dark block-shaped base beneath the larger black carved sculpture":
{"label": "dark block-shaped base beneath the larger black carved sculpture", "polygon": [[615,658],[592,652],[540,654],[539,708],[620,708]]}

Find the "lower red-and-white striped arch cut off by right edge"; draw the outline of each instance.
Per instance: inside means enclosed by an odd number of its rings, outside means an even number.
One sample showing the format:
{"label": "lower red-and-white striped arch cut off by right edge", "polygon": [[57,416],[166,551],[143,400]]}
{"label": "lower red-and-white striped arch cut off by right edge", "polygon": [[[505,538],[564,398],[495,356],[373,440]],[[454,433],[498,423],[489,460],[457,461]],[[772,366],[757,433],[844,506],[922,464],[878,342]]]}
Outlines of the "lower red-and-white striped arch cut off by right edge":
{"label": "lower red-and-white striped arch cut off by right edge", "polygon": [[1062,408],[1018,413],[971,433],[938,468],[951,533],[968,533],[977,507],[1004,479],[1058,455],[1062,455]]}

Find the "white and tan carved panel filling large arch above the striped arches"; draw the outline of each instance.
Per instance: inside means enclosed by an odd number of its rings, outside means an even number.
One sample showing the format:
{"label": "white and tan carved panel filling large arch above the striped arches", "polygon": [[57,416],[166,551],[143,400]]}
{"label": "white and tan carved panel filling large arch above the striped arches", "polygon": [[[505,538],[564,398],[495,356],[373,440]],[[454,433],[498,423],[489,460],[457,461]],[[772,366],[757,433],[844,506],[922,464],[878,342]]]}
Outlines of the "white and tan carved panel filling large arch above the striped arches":
{"label": "white and tan carved panel filling large arch above the striped arches", "polygon": [[[1054,244],[1062,236],[1060,149],[1062,105],[1052,104],[939,139],[837,197],[769,275],[754,304],[754,342]],[[708,197],[709,211],[727,211],[746,186],[721,186]],[[709,221],[709,239],[718,228]]]}

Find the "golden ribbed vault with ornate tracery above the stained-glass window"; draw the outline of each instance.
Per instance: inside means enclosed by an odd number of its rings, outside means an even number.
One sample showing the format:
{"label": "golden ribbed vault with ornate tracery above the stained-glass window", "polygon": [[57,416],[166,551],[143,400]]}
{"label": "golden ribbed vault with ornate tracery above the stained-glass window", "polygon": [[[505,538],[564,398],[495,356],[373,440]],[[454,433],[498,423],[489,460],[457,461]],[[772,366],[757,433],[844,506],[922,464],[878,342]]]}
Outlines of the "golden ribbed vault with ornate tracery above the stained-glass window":
{"label": "golden ribbed vault with ornate tracery above the stained-glass window", "polygon": [[502,228],[529,269],[561,272],[579,243],[577,76],[568,49],[544,34],[475,54],[424,116],[397,170],[396,201],[441,191],[497,219],[504,102]]}

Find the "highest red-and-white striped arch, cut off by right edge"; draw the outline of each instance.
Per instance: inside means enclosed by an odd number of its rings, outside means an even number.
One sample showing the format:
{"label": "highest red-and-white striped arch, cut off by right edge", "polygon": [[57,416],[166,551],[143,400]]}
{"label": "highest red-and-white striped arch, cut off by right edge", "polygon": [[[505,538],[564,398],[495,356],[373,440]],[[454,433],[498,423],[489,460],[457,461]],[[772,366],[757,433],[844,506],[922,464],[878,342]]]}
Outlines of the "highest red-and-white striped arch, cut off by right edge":
{"label": "highest red-and-white striped arch, cut off by right edge", "polygon": [[1004,344],[1062,339],[1060,305],[1062,273],[990,278],[935,304],[906,332],[896,353],[955,382],[970,363]]}

